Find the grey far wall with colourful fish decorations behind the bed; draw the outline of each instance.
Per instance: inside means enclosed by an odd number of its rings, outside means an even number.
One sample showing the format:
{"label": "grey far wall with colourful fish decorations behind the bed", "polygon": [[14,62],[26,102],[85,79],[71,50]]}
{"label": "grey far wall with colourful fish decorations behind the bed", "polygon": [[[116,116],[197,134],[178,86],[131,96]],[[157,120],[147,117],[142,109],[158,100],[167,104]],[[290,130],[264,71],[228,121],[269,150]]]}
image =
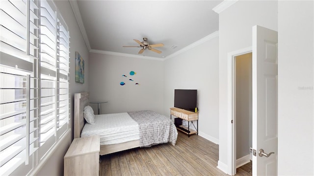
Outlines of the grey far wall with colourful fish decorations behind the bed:
{"label": "grey far wall with colourful fish decorations behind the bed", "polygon": [[[101,105],[101,113],[133,110],[162,113],[162,61],[100,53],[90,53],[89,58],[90,101],[108,101]],[[130,71],[136,74],[131,76]],[[120,85],[122,81],[124,86]],[[96,106],[92,107],[97,112]]]}

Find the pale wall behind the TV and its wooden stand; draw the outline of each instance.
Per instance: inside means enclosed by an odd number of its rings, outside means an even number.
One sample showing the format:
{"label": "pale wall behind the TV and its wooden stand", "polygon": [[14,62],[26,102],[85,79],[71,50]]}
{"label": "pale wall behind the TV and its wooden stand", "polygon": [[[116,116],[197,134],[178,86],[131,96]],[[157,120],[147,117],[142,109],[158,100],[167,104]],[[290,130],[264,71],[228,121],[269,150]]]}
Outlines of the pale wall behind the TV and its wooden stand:
{"label": "pale wall behind the TV and its wooden stand", "polygon": [[164,61],[163,112],[170,116],[174,89],[197,89],[199,135],[219,142],[218,37]]}

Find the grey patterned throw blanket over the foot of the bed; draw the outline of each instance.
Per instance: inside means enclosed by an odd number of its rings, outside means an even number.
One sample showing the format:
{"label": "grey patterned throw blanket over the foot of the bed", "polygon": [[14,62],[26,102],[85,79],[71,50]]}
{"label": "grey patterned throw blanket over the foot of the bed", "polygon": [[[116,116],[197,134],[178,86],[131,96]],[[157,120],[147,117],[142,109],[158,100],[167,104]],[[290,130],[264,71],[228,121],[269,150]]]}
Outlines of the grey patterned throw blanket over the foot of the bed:
{"label": "grey patterned throw blanket over the foot of the bed", "polygon": [[128,113],[138,123],[140,147],[168,142],[172,145],[176,144],[178,131],[170,118],[152,110]]}

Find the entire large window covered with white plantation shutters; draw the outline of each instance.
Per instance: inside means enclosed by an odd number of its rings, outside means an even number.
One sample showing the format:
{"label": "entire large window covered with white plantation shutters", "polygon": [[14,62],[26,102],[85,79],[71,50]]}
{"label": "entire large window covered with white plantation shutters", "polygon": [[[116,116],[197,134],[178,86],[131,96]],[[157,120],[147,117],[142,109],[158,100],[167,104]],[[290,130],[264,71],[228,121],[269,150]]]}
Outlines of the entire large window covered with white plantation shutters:
{"label": "entire large window covered with white plantation shutters", "polygon": [[0,175],[26,175],[69,129],[70,37],[50,0],[0,7]]}

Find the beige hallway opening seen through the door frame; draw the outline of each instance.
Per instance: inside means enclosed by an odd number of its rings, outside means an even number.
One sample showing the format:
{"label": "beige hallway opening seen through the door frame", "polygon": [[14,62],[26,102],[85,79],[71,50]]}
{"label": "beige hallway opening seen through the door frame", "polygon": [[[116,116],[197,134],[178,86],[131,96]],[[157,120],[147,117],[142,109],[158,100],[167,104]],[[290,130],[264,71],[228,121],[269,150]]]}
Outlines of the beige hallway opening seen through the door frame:
{"label": "beige hallway opening seen through the door frame", "polygon": [[234,121],[236,169],[252,160],[252,52],[234,57]]}

